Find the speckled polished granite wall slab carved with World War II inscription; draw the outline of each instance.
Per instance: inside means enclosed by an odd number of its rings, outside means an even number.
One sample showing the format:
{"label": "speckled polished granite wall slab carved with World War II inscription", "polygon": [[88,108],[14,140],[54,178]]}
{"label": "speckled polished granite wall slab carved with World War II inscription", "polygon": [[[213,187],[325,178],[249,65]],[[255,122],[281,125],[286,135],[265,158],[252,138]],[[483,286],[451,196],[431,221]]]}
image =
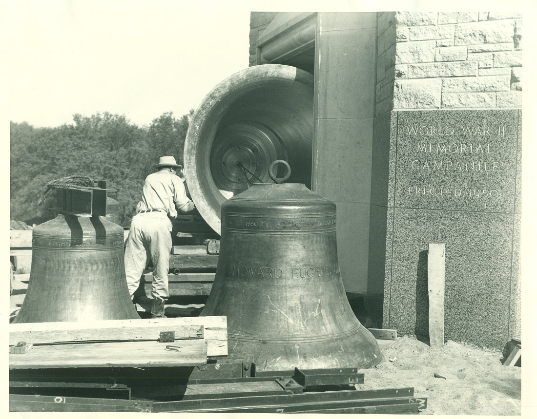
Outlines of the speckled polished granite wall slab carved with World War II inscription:
{"label": "speckled polished granite wall slab carved with World War II inscription", "polygon": [[519,335],[520,125],[515,109],[390,114],[389,153],[373,153],[388,174],[372,211],[378,234],[386,203],[384,328],[429,334],[427,248],[445,243],[445,339]]}

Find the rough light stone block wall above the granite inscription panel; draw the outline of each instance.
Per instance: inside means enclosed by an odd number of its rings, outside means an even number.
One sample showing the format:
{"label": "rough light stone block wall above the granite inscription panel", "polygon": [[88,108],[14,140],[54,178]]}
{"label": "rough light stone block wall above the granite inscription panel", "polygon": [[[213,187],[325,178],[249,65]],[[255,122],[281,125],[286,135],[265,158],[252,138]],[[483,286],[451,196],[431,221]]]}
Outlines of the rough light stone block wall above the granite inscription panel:
{"label": "rough light stone block wall above the granite inscription panel", "polygon": [[[393,109],[521,107],[520,13],[379,13],[378,77],[383,68],[383,54],[391,53],[387,45],[391,32],[385,22],[393,20],[396,24]],[[377,86],[382,91],[382,84],[384,80],[388,83],[389,76],[380,76]],[[382,98],[382,94],[378,95],[378,99]],[[377,115],[387,107],[382,100],[377,104]]]}

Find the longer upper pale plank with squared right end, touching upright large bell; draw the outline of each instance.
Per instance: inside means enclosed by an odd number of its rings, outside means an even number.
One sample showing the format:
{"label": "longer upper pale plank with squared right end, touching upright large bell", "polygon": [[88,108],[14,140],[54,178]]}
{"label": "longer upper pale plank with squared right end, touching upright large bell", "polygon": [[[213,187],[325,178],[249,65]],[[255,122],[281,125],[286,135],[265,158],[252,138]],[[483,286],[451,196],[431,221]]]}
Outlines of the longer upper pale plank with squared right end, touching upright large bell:
{"label": "longer upper pale plank with squared right end, touching upright large bell", "polygon": [[[204,339],[207,342],[207,356],[227,356],[228,354],[228,334],[226,316],[204,316],[204,317],[179,317],[163,319],[128,319],[128,320],[95,320],[95,321],[54,321],[43,323],[11,323],[9,325],[11,333],[18,332],[45,332],[51,335],[61,331],[106,328],[131,328],[137,330],[140,327],[153,326],[159,332],[171,330],[174,326],[204,326]],[[20,335],[19,335],[20,336]],[[10,338],[10,341],[12,339]],[[19,339],[20,340],[20,339]],[[30,339],[23,339],[30,343]],[[13,339],[15,343],[18,340]],[[201,341],[201,340],[200,340]],[[133,342],[134,343],[134,342]],[[95,345],[93,343],[88,345]],[[61,345],[63,346],[63,345]],[[34,347],[35,349],[35,347]],[[29,353],[31,353],[32,349]]]}

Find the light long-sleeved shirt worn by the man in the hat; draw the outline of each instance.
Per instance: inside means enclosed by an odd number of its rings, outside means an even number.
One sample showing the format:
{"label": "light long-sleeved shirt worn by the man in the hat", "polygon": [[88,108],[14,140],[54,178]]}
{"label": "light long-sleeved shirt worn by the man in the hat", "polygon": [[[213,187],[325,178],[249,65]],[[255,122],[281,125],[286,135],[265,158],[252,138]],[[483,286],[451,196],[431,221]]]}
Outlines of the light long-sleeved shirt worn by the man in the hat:
{"label": "light long-sleeved shirt worn by the man in the hat", "polygon": [[146,177],[142,199],[136,205],[137,211],[164,210],[171,218],[176,218],[177,208],[187,204],[183,179],[169,171],[157,171]]}

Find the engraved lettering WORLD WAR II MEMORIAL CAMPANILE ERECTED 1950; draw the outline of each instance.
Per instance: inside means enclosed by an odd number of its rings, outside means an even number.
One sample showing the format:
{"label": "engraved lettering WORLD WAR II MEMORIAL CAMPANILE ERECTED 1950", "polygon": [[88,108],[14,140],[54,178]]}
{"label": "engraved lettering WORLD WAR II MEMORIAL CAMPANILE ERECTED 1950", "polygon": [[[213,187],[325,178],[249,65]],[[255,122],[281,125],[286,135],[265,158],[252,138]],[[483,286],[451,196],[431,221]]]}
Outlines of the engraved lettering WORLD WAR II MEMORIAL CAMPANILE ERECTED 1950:
{"label": "engraved lettering WORLD WAR II MEMORIAL CAMPANILE ERECTED 1950", "polygon": [[[410,169],[417,175],[452,175],[466,178],[482,178],[488,174],[497,174],[502,170],[498,161],[500,153],[495,150],[498,139],[505,137],[505,126],[488,125],[408,125],[405,134],[411,141],[413,158],[409,159]],[[421,177],[421,176],[419,176]],[[469,186],[466,182],[457,185],[418,184],[407,185],[408,196],[438,198],[468,197],[473,199],[499,198],[499,188]]]}

